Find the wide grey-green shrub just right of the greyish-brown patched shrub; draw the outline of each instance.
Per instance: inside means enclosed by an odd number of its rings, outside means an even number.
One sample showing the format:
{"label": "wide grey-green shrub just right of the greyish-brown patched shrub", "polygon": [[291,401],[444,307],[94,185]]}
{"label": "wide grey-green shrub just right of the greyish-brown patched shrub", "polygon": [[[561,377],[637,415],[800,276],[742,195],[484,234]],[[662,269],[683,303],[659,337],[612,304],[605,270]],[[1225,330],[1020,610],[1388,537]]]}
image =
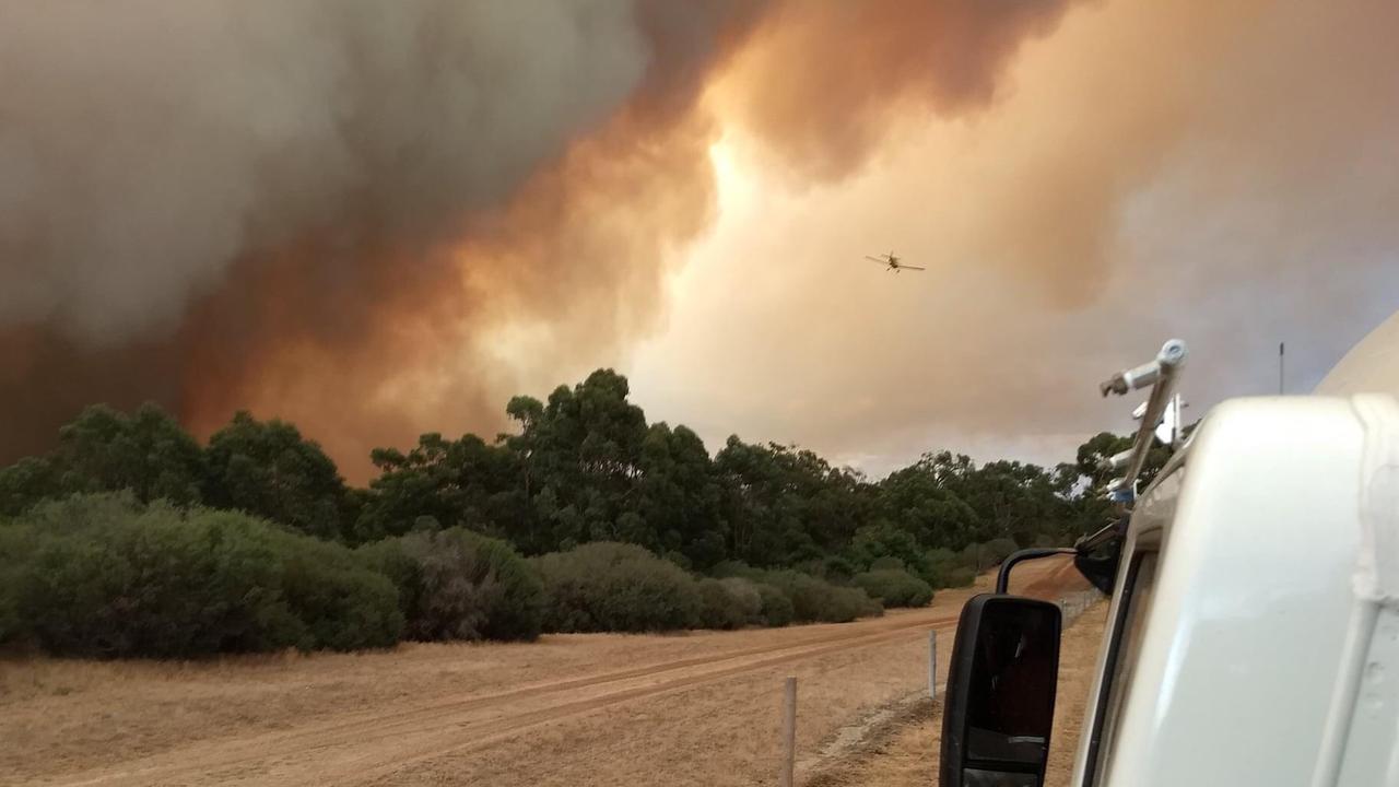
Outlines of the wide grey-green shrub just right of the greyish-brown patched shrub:
{"label": "wide grey-green shrub just right of the greyish-brown patched shrub", "polygon": [[683,569],[641,546],[585,543],[532,560],[551,632],[665,632],[694,626],[700,592]]}

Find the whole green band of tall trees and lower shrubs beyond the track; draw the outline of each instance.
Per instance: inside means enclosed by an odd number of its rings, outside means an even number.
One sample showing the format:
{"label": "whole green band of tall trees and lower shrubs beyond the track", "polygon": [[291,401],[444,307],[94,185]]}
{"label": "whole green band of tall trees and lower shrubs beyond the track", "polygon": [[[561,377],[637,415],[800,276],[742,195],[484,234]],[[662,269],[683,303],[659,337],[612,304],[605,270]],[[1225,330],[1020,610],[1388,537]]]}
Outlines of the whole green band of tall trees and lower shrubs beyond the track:
{"label": "whole green band of tall trees and lower shrubs beyond the track", "polygon": [[[709,454],[599,370],[509,434],[424,434],[344,482],[295,426],[84,410],[0,468],[0,643],[199,655],[400,639],[842,622],[928,604],[1109,517],[1100,434],[1055,468],[929,452],[880,480],[789,445]],[[1167,458],[1158,448],[1149,475]]]}

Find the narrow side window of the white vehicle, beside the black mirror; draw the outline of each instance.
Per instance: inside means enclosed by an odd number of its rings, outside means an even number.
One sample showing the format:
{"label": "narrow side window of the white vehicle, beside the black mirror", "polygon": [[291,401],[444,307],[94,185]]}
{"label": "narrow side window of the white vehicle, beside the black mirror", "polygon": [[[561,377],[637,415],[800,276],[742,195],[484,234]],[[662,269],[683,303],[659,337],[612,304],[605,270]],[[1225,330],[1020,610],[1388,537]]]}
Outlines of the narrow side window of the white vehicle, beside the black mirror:
{"label": "narrow side window of the white vehicle, beside the black mirror", "polygon": [[1119,622],[1115,627],[1116,643],[1107,667],[1109,676],[1105,681],[1105,693],[1098,699],[1100,713],[1095,721],[1098,727],[1098,734],[1095,735],[1097,753],[1093,756],[1093,767],[1088,770],[1084,784],[1098,783],[1102,774],[1107,773],[1108,763],[1112,762],[1119,716],[1130,696],[1132,672],[1136,668],[1142,637],[1146,633],[1146,619],[1151,612],[1153,590],[1156,588],[1156,563],[1157,553],[1154,552],[1137,556],[1126,581],[1123,609],[1119,612]]}

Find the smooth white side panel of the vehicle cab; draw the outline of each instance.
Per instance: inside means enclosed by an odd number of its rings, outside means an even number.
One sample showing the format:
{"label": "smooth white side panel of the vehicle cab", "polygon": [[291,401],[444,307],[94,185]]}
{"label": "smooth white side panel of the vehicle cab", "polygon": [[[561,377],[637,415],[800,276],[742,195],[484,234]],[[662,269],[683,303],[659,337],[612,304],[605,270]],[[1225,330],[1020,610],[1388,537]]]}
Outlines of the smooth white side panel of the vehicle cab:
{"label": "smooth white side panel of the vehicle cab", "polygon": [[[1132,556],[1161,550],[1153,601],[1091,784],[1312,783],[1354,605],[1364,447],[1349,399],[1237,399],[1147,489],[1100,676]],[[1076,786],[1105,690],[1088,702]]]}

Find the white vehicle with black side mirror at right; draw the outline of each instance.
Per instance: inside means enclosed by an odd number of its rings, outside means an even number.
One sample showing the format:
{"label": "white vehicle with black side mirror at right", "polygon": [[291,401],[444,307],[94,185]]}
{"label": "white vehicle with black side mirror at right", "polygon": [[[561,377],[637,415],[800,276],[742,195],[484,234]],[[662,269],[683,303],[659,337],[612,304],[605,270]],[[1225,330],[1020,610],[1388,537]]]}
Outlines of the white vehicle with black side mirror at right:
{"label": "white vehicle with black side mirror at right", "polygon": [[[1377,379],[1351,357],[1346,395],[1219,405],[1139,499],[1184,344],[1105,384],[1153,392],[1114,458],[1129,514],[1077,545],[1119,560],[1073,787],[1399,787],[1399,403],[1350,395]],[[1058,643],[1053,605],[968,602],[943,787],[1042,783]]]}

